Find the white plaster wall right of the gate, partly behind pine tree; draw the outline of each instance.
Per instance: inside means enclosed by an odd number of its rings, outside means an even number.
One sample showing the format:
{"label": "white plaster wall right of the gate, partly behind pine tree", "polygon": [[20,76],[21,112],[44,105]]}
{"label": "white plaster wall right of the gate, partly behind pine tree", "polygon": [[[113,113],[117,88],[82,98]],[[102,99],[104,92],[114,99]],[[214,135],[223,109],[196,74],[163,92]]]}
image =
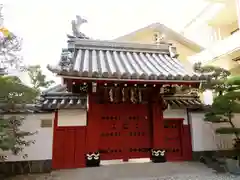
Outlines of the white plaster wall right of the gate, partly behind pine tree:
{"label": "white plaster wall right of the gate, partly behind pine tree", "polygon": [[[204,121],[204,113],[190,113],[193,151],[224,150],[232,148],[233,135],[216,134],[219,127],[229,127],[228,123],[213,124]],[[233,119],[236,127],[240,127],[240,114]]]}

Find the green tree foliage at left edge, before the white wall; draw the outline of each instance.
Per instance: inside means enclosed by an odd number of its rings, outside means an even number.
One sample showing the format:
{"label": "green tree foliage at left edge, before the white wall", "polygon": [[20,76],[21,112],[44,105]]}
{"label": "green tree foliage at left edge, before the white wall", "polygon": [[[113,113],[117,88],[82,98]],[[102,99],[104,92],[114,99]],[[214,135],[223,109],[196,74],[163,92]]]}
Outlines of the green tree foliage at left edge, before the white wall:
{"label": "green tree foliage at left edge, before the white wall", "polygon": [[[17,77],[0,76],[0,149],[19,154],[25,146],[34,141],[26,140],[26,136],[35,132],[21,130],[24,116],[12,115],[15,111],[25,111],[26,104],[34,101],[36,91],[24,85]],[[26,156],[26,155],[24,155]],[[1,156],[2,160],[3,157]]]}

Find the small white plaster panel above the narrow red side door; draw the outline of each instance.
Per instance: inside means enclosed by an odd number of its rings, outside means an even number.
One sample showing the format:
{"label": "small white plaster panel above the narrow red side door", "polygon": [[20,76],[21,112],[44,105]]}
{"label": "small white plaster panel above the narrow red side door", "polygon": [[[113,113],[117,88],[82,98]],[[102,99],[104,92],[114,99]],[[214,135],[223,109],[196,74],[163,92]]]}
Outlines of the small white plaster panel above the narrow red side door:
{"label": "small white plaster panel above the narrow red side door", "polygon": [[187,111],[185,109],[167,109],[163,112],[163,118],[184,118],[183,124],[188,124]]}

